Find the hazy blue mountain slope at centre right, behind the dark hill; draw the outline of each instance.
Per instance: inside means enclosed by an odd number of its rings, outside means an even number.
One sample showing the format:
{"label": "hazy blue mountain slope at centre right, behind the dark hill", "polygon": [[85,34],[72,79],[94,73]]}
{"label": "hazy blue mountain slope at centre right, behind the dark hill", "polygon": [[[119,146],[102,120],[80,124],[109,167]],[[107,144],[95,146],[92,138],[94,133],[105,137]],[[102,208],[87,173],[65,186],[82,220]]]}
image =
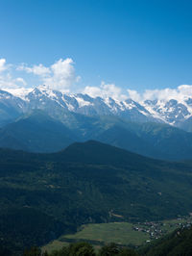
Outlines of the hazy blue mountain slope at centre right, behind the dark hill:
{"label": "hazy blue mountain slope at centre right, behind the dark hill", "polygon": [[192,159],[192,133],[162,123],[135,123],[115,116],[94,118],[84,141],[96,140],[147,157],[167,160]]}

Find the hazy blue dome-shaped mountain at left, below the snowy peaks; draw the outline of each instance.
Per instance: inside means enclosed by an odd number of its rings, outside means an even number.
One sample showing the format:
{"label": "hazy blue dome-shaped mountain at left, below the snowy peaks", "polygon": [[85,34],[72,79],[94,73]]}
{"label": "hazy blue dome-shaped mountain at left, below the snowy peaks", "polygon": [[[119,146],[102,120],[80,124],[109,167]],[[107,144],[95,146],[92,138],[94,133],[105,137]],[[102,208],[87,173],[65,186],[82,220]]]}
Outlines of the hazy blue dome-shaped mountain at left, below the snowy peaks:
{"label": "hazy blue dome-shaped mountain at left, below the snowy peaks", "polygon": [[0,130],[0,146],[34,152],[54,152],[76,136],[59,121],[41,111],[24,115]]}

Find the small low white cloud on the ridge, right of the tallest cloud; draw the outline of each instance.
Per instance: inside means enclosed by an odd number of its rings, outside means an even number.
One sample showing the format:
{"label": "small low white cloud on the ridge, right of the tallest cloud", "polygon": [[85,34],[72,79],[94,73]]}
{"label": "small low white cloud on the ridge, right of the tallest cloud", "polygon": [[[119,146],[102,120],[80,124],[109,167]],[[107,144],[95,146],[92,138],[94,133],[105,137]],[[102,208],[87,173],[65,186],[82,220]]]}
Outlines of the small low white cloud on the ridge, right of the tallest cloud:
{"label": "small low white cloud on the ridge, right of the tallest cloud", "polygon": [[125,100],[127,98],[120,88],[114,84],[105,84],[105,82],[102,82],[100,87],[85,87],[83,92],[91,97],[111,97],[117,100]]}

